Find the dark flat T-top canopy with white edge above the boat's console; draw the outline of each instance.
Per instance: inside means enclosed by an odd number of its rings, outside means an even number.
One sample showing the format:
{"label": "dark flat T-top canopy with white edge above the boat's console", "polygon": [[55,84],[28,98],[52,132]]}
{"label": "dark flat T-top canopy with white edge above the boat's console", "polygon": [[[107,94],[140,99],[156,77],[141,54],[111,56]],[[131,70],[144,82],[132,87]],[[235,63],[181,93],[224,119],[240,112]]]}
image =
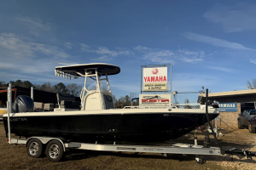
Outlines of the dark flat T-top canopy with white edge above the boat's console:
{"label": "dark flat T-top canopy with white edge above the boat's console", "polygon": [[95,71],[99,74],[105,75],[115,75],[119,74],[120,68],[116,65],[109,65],[106,63],[91,63],[84,65],[65,65],[55,67],[56,74],[67,74],[74,77],[81,77],[84,75],[85,71],[90,72],[90,74],[95,74]]}

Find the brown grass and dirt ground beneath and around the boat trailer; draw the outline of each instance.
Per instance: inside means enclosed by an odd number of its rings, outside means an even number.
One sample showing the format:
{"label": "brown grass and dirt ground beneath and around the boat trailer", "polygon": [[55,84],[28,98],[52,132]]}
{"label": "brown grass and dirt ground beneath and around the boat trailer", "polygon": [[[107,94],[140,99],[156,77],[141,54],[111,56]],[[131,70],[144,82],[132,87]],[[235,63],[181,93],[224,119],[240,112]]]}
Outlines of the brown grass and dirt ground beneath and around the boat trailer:
{"label": "brown grass and dirt ground beneath and around the boat trailer", "polygon": [[[223,119],[224,120],[224,119]],[[228,122],[228,118],[226,119]],[[229,122],[230,123],[230,122]],[[233,124],[222,123],[218,137],[218,145],[211,136],[211,146],[218,146],[223,150],[231,148],[256,151],[256,133],[249,133],[247,129],[238,129]],[[219,126],[218,126],[219,127]],[[195,132],[175,140],[175,142],[194,144]],[[204,136],[197,133],[198,144],[203,144]],[[256,170],[256,157],[247,160],[246,157],[233,156],[205,156],[207,162],[203,165],[195,162],[195,156],[170,156],[148,153],[125,153],[72,150],[67,152],[61,162],[48,161],[47,157],[34,159],[26,155],[23,144],[10,145],[6,143],[3,122],[0,122],[0,169],[250,169]]]}

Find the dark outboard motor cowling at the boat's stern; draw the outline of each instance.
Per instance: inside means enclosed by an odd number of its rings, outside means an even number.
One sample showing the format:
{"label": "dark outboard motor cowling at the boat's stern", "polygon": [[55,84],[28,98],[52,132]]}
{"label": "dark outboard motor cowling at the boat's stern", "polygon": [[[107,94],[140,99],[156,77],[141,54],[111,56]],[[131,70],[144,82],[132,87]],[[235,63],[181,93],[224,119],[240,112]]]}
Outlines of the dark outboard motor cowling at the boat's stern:
{"label": "dark outboard motor cowling at the boat's stern", "polygon": [[12,110],[15,113],[18,112],[32,112],[34,109],[33,100],[25,95],[19,95],[13,104]]}

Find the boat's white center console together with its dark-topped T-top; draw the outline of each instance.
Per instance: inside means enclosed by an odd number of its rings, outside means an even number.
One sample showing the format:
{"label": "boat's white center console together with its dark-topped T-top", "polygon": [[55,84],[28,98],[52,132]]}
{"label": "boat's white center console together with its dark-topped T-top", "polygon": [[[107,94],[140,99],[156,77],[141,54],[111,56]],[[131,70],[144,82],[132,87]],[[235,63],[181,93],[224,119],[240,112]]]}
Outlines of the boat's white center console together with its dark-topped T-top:
{"label": "boat's white center console together with its dark-topped T-top", "polygon": [[[59,77],[70,79],[84,77],[84,88],[82,88],[80,94],[81,111],[114,109],[108,76],[118,74],[119,72],[119,66],[101,63],[65,65],[55,68],[55,75]],[[90,88],[88,86],[89,78],[95,81],[95,87]],[[103,82],[105,83],[103,84]]]}

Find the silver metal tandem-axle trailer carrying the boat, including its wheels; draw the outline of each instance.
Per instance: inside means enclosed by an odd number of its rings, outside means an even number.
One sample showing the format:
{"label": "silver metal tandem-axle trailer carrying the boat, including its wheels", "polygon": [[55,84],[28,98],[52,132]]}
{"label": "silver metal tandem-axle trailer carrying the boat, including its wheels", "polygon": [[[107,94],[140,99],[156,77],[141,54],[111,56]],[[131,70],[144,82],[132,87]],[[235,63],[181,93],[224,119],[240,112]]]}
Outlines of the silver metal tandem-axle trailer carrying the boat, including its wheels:
{"label": "silver metal tandem-axle trailer carrying the boat, including its wheels", "polygon": [[[248,150],[221,150],[219,147],[209,147],[208,139],[206,137],[204,145],[195,144],[180,144],[168,143],[167,145],[135,145],[135,144],[90,144],[79,142],[68,142],[62,138],[52,137],[32,137],[29,139],[8,139],[9,144],[25,144],[27,155],[38,158],[44,154],[43,144],[46,145],[45,154],[49,161],[61,161],[64,157],[64,152],[75,150],[98,150],[98,151],[121,151],[121,152],[144,152],[144,153],[159,153],[163,156],[171,155],[195,155],[195,161],[198,164],[206,162],[204,156],[221,156],[221,155],[236,155],[246,156],[247,159],[252,159],[256,156],[256,152]],[[207,147],[206,147],[207,146]]]}

